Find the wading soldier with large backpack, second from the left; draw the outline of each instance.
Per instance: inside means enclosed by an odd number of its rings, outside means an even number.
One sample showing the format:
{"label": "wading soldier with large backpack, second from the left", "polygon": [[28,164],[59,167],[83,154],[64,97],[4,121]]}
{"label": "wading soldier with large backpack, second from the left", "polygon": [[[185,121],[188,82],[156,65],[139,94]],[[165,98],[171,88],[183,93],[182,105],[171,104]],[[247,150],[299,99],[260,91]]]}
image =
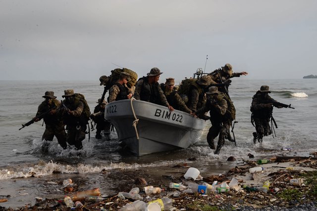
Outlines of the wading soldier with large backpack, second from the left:
{"label": "wading soldier with large backpack, second from the left", "polygon": [[[65,97],[63,104],[65,106],[64,112],[64,123],[66,124],[67,130],[67,142],[70,145],[74,145],[77,150],[82,149],[82,140],[86,137],[86,129],[89,120],[86,113],[89,112],[89,107],[86,108],[82,98],[74,94],[73,89],[64,90]],[[87,111],[88,109],[88,111]]]}

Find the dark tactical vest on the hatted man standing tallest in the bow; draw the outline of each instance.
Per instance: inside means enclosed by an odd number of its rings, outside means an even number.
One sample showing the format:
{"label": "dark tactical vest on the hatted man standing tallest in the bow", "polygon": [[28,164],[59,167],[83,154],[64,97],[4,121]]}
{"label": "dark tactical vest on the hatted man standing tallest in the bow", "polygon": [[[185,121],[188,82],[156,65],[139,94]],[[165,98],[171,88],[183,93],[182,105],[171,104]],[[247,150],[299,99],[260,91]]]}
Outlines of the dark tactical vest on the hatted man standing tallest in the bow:
{"label": "dark tactical vest on the hatted man standing tallest in the bow", "polygon": [[141,78],[143,83],[141,85],[140,100],[161,104],[159,100],[159,83],[149,84],[148,77]]}

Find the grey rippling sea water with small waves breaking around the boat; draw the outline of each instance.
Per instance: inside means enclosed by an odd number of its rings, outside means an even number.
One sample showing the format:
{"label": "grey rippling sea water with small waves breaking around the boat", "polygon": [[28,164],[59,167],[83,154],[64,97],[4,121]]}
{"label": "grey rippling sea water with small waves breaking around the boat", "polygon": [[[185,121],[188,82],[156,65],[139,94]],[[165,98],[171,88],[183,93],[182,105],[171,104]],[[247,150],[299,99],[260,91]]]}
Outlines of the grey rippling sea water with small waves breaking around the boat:
{"label": "grey rippling sea water with small waves breaking around the boat", "polygon": [[[44,154],[41,150],[41,137],[45,129],[45,126],[42,127],[43,121],[19,130],[21,124],[35,116],[37,107],[44,100],[42,96],[47,90],[54,91],[56,99],[61,100],[64,89],[74,89],[75,92],[85,95],[93,111],[104,90],[98,81],[0,81],[0,195],[16,196],[17,199],[13,204],[2,203],[1,206],[23,206],[26,203],[23,198],[30,194],[30,188],[38,187],[34,188],[32,197],[43,194],[40,190],[43,189],[43,185],[39,184],[56,179],[62,181],[70,174],[72,177],[76,174],[76,177],[86,179],[87,183],[93,179],[101,185],[105,181],[104,178],[99,178],[98,173],[112,169],[159,168],[190,163],[201,172],[208,171],[212,174],[223,171],[223,164],[226,164],[229,156],[234,156],[237,161],[249,159],[249,153],[256,158],[284,153],[308,156],[309,152],[317,151],[316,82],[315,79],[233,78],[229,94],[237,110],[238,123],[234,127],[237,146],[226,141],[220,154],[214,155],[214,150],[208,147],[206,141],[211,126],[210,122],[207,122],[203,135],[189,148],[137,158],[121,150],[115,131],[104,140],[95,139],[95,130],[91,131],[90,140],[87,134],[80,153],[73,148],[63,150],[54,138],[49,152]],[[272,98],[284,104],[291,104],[295,108],[273,109],[273,117],[278,126],[275,128],[276,137],[264,137],[262,146],[253,143],[252,132],[255,128],[250,122],[252,96],[261,85],[269,85]],[[291,148],[291,151],[280,151],[283,147]],[[195,158],[195,161],[189,161],[189,158]],[[106,181],[107,187],[115,188],[111,182],[113,181]],[[106,188],[101,189],[107,191]]]}

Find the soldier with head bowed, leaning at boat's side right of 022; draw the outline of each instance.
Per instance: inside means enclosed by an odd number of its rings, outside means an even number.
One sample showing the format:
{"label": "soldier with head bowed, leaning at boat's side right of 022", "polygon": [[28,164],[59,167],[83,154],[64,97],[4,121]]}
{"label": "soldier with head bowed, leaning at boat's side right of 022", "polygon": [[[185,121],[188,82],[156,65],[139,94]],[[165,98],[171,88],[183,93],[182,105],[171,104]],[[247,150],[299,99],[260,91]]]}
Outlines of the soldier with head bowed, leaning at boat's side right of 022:
{"label": "soldier with head bowed, leaning at boat's side right of 022", "polygon": [[206,96],[204,88],[211,84],[211,77],[202,76],[198,80],[193,80],[189,86],[189,96],[187,107],[196,112],[197,109],[202,108],[206,103]]}

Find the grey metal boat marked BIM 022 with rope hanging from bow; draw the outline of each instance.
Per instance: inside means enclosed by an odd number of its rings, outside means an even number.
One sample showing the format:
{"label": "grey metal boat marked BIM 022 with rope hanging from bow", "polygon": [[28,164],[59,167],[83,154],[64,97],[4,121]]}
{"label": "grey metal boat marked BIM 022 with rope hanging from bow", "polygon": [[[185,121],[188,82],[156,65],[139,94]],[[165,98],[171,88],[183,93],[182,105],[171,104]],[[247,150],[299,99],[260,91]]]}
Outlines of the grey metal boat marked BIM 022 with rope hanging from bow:
{"label": "grey metal boat marked BIM 022 with rope hanging from bow", "polygon": [[141,100],[109,103],[105,119],[135,155],[187,148],[198,141],[205,121],[190,114]]}

